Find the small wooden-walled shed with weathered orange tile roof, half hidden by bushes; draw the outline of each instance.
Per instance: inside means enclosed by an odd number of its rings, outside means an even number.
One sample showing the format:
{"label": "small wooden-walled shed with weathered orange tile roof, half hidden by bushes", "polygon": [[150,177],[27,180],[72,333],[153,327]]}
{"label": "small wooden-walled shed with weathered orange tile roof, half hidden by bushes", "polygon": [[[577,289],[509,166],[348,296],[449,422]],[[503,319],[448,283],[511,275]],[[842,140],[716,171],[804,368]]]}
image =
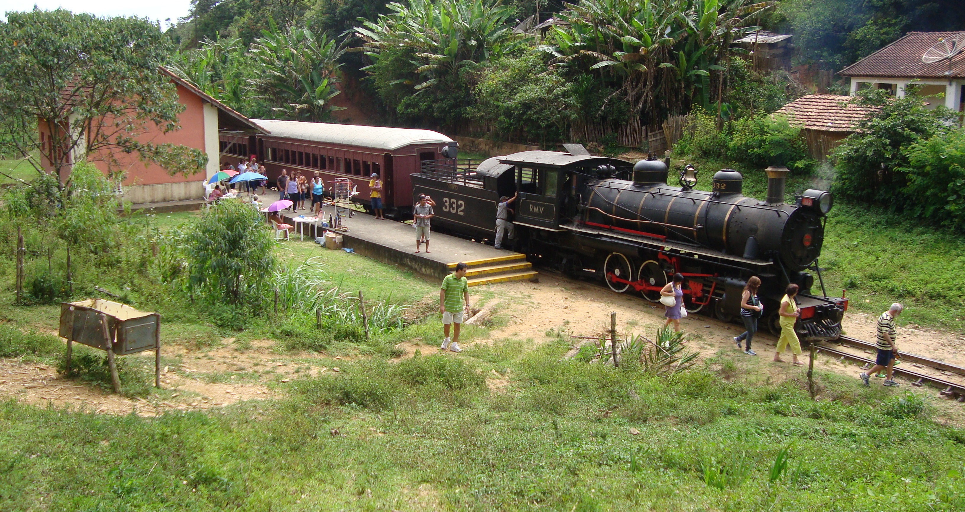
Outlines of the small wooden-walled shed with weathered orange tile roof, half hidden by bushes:
{"label": "small wooden-walled shed with weathered orange tile roof, half hidden by bushes", "polygon": [[877,112],[876,107],[860,106],[853,96],[808,94],[781,107],[775,115],[801,126],[801,134],[814,158],[827,159],[831,150],[854,133],[858,121]]}

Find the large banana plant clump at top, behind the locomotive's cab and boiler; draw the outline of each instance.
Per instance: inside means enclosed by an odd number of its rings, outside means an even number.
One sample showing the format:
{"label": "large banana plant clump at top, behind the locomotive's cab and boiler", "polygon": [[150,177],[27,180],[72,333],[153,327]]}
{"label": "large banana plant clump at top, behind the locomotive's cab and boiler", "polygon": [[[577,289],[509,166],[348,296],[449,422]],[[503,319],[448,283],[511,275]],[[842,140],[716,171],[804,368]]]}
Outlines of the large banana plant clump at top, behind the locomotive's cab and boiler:
{"label": "large banana plant clump at top, behind the locomotive's cab and boiler", "polygon": [[[558,67],[586,68],[620,84],[631,122],[658,122],[710,108],[713,80],[725,67],[731,41],[774,2],[748,0],[580,0],[559,16],[542,47]],[[717,88],[720,89],[718,81]]]}

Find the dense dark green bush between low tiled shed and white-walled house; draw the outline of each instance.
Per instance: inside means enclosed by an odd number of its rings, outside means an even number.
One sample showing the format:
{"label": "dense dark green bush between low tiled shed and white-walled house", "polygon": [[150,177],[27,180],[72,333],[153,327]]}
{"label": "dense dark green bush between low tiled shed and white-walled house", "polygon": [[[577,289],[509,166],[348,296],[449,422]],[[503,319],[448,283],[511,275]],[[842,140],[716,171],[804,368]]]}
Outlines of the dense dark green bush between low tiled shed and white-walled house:
{"label": "dense dark green bush between low tiled shed and white-walled house", "polygon": [[944,106],[924,108],[914,87],[909,86],[906,92],[900,98],[880,89],[859,93],[859,104],[880,111],[858,122],[857,131],[835,149],[836,193],[896,209],[905,205],[908,148],[948,131],[955,121],[954,113]]}

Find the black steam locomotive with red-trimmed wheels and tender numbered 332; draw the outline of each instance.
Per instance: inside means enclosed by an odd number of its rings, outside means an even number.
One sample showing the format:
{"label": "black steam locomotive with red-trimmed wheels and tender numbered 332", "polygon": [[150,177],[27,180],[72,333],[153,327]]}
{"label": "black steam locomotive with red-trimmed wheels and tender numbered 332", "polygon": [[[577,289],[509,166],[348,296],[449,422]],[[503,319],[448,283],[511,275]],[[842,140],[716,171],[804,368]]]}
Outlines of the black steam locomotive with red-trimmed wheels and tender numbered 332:
{"label": "black steam locomotive with red-trimmed wheels and tender numbered 332", "polygon": [[585,153],[522,151],[478,166],[427,162],[412,175],[413,195],[433,197],[434,225],[475,238],[493,236],[496,202],[519,192],[514,248],[531,261],[570,275],[593,276],[616,292],[651,302],[670,276],[685,277],[684,307],[730,321],[739,312],[747,279],[758,276],[764,323],[779,331],[779,301],[797,283],[805,341],[835,339],[847,299],[813,294],[813,275],[832,198],[807,190],[785,202],[787,170],[769,168],[767,200],[742,194],[742,176],[720,171],[712,191],[694,190],[688,166],[678,186],[667,183],[667,164],[655,158],[635,165]]}

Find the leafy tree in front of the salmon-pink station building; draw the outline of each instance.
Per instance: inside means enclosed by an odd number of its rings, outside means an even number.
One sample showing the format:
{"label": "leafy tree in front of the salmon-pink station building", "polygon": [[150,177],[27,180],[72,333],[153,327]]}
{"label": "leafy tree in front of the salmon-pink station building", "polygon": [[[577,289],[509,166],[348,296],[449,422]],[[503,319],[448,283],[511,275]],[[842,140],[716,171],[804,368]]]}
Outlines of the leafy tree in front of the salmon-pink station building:
{"label": "leafy tree in front of the salmon-pink station building", "polygon": [[144,19],[9,13],[0,23],[0,153],[27,155],[41,174],[44,163],[64,175],[91,158],[117,168],[120,153],[172,175],[203,171],[200,150],[139,140],[151,129],[179,128],[184,107],[170,77],[158,72],[171,49]]}

